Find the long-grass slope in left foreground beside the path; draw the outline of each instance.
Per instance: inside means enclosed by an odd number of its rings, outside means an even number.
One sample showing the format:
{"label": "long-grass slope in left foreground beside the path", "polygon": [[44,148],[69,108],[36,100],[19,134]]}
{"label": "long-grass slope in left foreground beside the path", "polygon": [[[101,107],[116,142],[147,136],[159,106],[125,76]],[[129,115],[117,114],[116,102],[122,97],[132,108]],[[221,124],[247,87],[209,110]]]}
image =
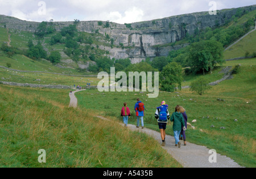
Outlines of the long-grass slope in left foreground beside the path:
{"label": "long-grass slope in left foreground beside the path", "polygon": [[[0,85],[1,167],[181,166],[147,135],[68,109],[67,94]],[[39,149],[46,164],[38,163]]]}

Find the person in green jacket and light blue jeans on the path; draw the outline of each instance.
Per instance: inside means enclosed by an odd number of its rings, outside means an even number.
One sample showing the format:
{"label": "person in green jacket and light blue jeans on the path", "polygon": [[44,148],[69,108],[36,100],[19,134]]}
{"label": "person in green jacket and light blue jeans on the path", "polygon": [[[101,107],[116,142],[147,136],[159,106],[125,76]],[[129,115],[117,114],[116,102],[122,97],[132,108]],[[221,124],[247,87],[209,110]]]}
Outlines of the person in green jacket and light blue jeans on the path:
{"label": "person in green jacket and light blue jeans on the path", "polygon": [[179,136],[182,128],[181,126],[185,126],[183,115],[180,113],[180,106],[175,107],[175,112],[171,116],[171,122],[174,122],[172,129],[174,130],[175,146],[180,148]]}

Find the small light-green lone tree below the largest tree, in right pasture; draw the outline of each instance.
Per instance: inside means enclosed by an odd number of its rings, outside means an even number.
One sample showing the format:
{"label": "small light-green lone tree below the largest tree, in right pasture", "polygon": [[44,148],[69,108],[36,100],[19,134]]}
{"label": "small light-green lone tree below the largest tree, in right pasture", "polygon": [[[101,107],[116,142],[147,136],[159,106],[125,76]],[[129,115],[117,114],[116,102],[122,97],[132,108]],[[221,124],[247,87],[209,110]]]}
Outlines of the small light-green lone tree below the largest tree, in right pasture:
{"label": "small light-green lone tree below the largest tree, in right pasture", "polygon": [[191,91],[196,91],[199,95],[203,95],[205,91],[211,89],[212,86],[209,85],[209,81],[201,77],[198,80],[191,83]]}

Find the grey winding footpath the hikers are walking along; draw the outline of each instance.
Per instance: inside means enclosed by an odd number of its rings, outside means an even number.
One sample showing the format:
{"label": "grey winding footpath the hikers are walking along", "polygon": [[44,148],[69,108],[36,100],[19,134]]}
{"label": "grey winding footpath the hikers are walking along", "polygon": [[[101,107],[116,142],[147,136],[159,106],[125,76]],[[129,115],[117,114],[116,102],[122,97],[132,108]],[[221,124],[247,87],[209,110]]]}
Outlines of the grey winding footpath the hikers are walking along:
{"label": "grey winding footpath the hikers are walking along", "polygon": [[[78,91],[75,91],[75,93]],[[75,97],[75,93],[69,95],[71,97],[71,105],[69,107],[77,107],[77,99]],[[102,116],[95,116],[102,120],[110,120],[104,118]],[[122,123],[119,123],[123,126]],[[144,132],[147,135],[154,138],[159,144],[162,143],[162,139],[160,137],[160,132],[150,130],[148,128],[137,128],[135,125],[128,124],[127,126],[131,131]],[[182,142],[182,141],[181,141]],[[173,136],[166,136],[166,146],[163,147],[166,151],[174,157],[181,165],[185,168],[242,168],[242,166],[238,165],[234,160],[229,157],[222,156],[216,153],[217,163],[210,163],[209,159],[212,159],[212,152],[209,152],[210,149],[207,147],[196,145],[187,142],[187,145],[181,145],[181,148],[175,147],[175,139]]]}

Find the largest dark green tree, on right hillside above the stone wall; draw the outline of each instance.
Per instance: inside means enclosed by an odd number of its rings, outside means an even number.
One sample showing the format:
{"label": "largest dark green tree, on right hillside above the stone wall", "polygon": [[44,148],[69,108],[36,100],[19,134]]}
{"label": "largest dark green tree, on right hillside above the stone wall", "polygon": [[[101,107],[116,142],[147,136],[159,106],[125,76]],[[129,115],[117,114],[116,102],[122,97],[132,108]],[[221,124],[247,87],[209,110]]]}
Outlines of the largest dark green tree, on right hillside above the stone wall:
{"label": "largest dark green tree, on right hillside above the stone wall", "polygon": [[224,63],[223,60],[224,48],[222,44],[216,40],[200,41],[193,43],[189,52],[189,61],[194,72],[205,70],[212,73],[216,64]]}

